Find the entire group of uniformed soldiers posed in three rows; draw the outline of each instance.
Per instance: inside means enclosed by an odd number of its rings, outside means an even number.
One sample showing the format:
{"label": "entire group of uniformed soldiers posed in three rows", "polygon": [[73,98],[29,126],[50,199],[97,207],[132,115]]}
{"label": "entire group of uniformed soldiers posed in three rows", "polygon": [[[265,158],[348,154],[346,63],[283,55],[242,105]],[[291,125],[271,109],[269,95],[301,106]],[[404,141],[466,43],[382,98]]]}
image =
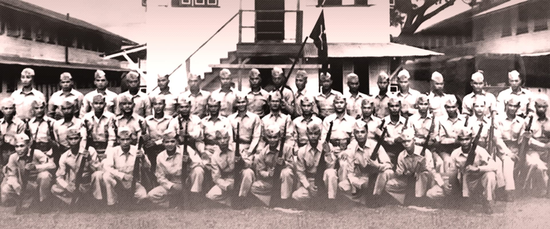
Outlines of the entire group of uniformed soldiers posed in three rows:
{"label": "entire group of uniformed soldiers posed in three rows", "polygon": [[359,92],[356,74],[345,76],[349,90],[340,93],[323,72],[320,92],[309,93],[307,72],[296,72],[296,92],[282,69],[271,73],[262,88],[252,69],[248,92],[232,87],[228,69],[213,92],[189,74],[179,94],[159,75],[158,90],[145,94],[130,71],[129,90],[116,94],[98,70],[97,89],[84,96],[65,72],[46,102],[34,70],[24,69],[21,88],[0,104],[2,203],[27,208],[53,194],[67,204],[136,198],[193,209],[206,193],[234,208],[254,197],[291,207],[292,199],[334,204],[338,192],[372,204],[388,193],[401,204],[475,197],[490,214],[495,196],[513,201],[519,178],[548,194],[548,98],[521,88],[517,71],[498,97],[483,90],[482,72],[472,74],[461,109],[439,72],[428,94],[409,87],[406,70],[395,77],[398,92],[389,92],[392,79],[381,72],[372,95]]}

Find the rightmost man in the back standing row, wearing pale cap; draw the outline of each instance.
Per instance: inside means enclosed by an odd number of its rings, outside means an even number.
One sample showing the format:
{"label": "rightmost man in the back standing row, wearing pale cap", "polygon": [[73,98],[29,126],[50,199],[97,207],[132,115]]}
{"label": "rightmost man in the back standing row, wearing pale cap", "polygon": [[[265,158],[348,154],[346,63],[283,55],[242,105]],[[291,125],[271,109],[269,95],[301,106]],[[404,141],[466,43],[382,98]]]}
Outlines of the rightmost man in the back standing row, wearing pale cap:
{"label": "rightmost man in the back standing row, wearing pale cap", "polygon": [[[497,110],[498,113],[505,114],[505,103],[506,100],[509,99],[509,97],[513,94],[518,96],[519,100],[519,109],[518,109],[518,116],[521,118],[525,118],[527,113],[535,111],[535,103],[533,98],[533,93],[526,88],[522,88],[521,85],[523,83],[523,80],[521,80],[521,77],[519,76],[519,72],[516,70],[508,72],[508,85],[510,88],[498,93],[497,96]],[[527,111],[529,110],[529,111]]]}

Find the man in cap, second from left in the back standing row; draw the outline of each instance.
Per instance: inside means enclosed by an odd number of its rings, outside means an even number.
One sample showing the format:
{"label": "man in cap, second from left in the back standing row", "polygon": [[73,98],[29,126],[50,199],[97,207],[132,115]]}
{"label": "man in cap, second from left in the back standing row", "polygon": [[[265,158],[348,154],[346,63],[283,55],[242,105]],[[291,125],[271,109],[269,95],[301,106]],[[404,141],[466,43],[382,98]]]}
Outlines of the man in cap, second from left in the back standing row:
{"label": "man in cap, second from left in the back standing row", "polygon": [[62,119],[63,112],[61,111],[61,103],[65,99],[70,99],[73,100],[74,103],[74,116],[79,118],[84,94],[74,90],[73,76],[71,76],[69,72],[63,72],[59,80],[61,90],[53,93],[50,97],[48,101],[48,116],[55,120]]}

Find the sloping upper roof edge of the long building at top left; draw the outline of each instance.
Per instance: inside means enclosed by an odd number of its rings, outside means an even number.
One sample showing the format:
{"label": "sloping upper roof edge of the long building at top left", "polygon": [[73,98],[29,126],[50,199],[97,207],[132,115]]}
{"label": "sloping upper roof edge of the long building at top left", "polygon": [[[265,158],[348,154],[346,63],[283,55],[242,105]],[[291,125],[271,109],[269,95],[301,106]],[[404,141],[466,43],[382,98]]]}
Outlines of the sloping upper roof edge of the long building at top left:
{"label": "sloping upper roof edge of the long building at top left", "polygon": [[81,27],[83,29],[94,30],[109,36],[119,38],[120,40],[123,40],[123,42],[128,43],[130,45],[138,44],[134,41],[129,40],[128,38],[109,32],[101,27],[87,23],[86,21],[72,18],[70,16],[69,16],[69,19],[67,19],[67,15],[65,14],[57,13],[57,12],[54,12],[53,10],[42,8],[42,7],[39,7],[38,5],[31,4],[28,2],[23,2],[20,0],[0,0],[0,7],[7,7],[23,13],[29,13],[29,14],[34,14],[38,16],[45,16],[46,18],[58,20],[62,23],[68,23],[70,25]]}

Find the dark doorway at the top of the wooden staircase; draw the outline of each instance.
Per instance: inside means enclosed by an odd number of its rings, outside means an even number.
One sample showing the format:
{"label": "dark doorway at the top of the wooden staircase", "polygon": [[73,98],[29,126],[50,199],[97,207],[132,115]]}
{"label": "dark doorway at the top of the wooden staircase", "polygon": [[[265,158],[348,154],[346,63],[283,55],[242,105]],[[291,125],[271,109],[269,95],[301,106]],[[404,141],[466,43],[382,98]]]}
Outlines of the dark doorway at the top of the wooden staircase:
{"label": "dark doorway at the top of the wooden staircase", "polygon": [[[284,40],[284,0],[254,0],[256,41]],[[269,11],[267,11],[269,10]],[[281,12],[273,12],[281,10]]]}

